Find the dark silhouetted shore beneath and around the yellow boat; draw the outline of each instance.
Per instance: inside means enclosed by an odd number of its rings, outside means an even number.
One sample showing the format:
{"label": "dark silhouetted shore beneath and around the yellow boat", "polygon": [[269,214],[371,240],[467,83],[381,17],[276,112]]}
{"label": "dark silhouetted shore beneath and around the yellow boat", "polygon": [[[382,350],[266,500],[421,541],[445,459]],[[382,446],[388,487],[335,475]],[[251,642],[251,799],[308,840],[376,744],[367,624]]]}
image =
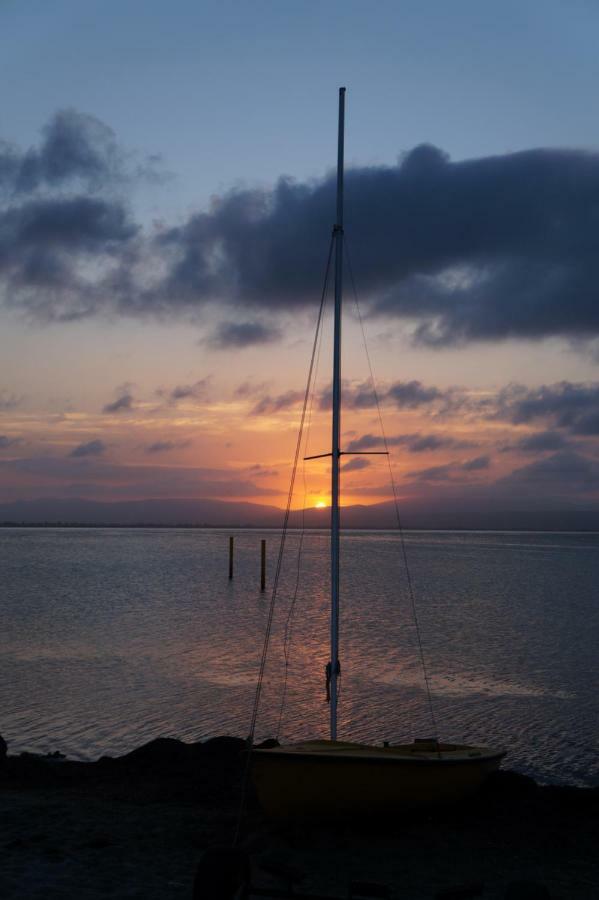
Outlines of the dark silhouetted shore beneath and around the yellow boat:
{"label": "dark silhouetted shore beneath and around the yellow boat", "polygon": [[[84,763],[6,756],[0,739],[0,896],[191,900],[204,851],[232,841],[243,749],[237,738],[160,738]],[[269,823],[250,790],[240,846],[252,884],[282,895],[293,883],[345,900],[350,883],[358,896],[374,882],[391,900],[592,900],[598,833],[599,789],[500,772],[459,810],[336,828]]]}

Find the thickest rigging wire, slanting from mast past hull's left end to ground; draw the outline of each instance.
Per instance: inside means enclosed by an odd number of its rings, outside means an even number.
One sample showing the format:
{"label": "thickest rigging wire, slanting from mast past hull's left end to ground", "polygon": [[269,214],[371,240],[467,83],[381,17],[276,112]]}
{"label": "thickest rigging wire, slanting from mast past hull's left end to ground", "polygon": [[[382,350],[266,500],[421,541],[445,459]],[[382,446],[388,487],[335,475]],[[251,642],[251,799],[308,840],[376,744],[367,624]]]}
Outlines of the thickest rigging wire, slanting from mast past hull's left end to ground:
{"label": "thickest rigging wire, slanting from mast past hull's left end to ground", "polygon": [[306,410],[308,408],[308,401],[310,398],[310,388],[312,385],[312,375],[314,372],[316,350],[318,347],[318,337],[319,337],[319,333],[320,333],[320,328],[321,328],[321,323],[322,323],[322,315],[323,315],[323,311],[324,311],[327,287],[328,287],[328,282],[329,282],[329,273],[330,273],[330,269],[331,269],[331,259],[333,256],[334,240],[335,240],[335,235],[333,232],[333,234],[331,234],[331,241],[329,244],[329,252],[328,252],[328,256],[327,256],[327,264],[326,264],[326,268],[325,268],[324,283],[323,283],[322,292],[320,295],[320,306],[318,309],[318,318],[316,320],[316,333],[314,335],[314,343],[312,345],[312,356],[310,359],[310,368],[308,370],[308,379],[306,382],[304,403],[303,403],[303,407],[302,407],[299,432],[298,432],[297,443],[296,443],[296,447],[295,447],[295,456],[293,459],[291,480],[289,483],[289,493],[287,495],[287,506],[285,508],[285,516],[283,518],[283,528],[281,531],[281,542],[279,544],[277,565],[275,568],[275,575],[274,575],[274,579],[273,579],[273,587],[272,587],[272,593],[271,593],[271,598],[270,598],[270,605],[269,605],[269,609],[268,609],[268,617],[267,617],[267,622],[266,622],[266,633],[264,636],[264,644],[262,646],[262,655],[260,657],[260,669],[258,672],[258,681],[256,684],[256,692],[254,695],[254,706],[252,709],[252,717],[250,720],[250,731],[249,731],[249,735],[248,735],[248,739],[247,739],[248,754],[247,754],[246,765],[245,765],[245,769],[244,769],[242,786],[241,786],[241,799],[240,799],[240,805],[239,805],[239,813],[237,816],[237,825],[236,825],[235,834],[233,837],[233,846],[236,846],[237,842],[239,840],[239,835],[240,835],[240,831],[241,831],[241,820],[243,817],[243,811],[245,809],[245,802],[246,802],[246,797],[247,797],[247,784],[248,784],[248,777],[249,777],[249,771],[250,771],[251,750],[252,750],[252,746],[254,743],[254,735],[256,733],[256,723],[258,721],[258,711],[260,709],[260,696],[262,694],[262,685],[264,682],[264,672],[266,670],[266,659],[268,656],[268,647],[270,644],[270,635],[272,632],[272,625],[273,625],[273,620],[274,620],[274,613],[275,613],[275,607],[276,607],[276,601],[277,601],[277,593],[278,593],[278,587],[279,587],[279,579],[281,577],[281,569],[283,566],[285,541],[287,538],[287,530],[288,530],[288,526],[289,526],[289,514],[291,512],[291,502],[293,500],[293,489],[295,486],[295,476],[297,473],[297,464],[299,461],[299,455],[300,455],[300,450],[301,450],[301,446],[302,446],[304,422],[306,419]]}

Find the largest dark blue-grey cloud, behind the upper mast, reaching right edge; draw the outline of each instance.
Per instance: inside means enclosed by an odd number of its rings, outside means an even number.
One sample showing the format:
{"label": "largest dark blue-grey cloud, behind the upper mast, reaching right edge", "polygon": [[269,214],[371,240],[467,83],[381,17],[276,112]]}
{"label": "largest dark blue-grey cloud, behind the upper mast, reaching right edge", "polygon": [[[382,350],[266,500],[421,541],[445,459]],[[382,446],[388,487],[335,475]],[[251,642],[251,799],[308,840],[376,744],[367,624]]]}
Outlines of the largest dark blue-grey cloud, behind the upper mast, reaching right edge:
{"label": "largest dark blue-grey cloud, behind the upper mast, reaching right edge", "polygon": [[[350,169],[347,231],[372,310],[420,322],[429,343],[599,331],[599,156],[530,150],[452,163],[417,147]],[[334,179],[235,190],[160,237],[169,296],[291,309],[311,301]]]}

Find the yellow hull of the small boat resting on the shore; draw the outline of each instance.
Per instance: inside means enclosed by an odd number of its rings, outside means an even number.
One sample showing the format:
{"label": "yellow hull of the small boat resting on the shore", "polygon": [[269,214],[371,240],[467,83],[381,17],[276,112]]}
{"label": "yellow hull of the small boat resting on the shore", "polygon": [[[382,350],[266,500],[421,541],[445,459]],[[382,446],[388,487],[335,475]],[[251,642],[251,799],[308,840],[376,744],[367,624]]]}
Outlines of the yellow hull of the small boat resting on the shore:
{"label": "yellow hull of the small boat resting on the shore", "polygon": [[269,816],[369,818],[458,802],[477,791],[504,756],[430,741],[393,747],[309,741],[253,750],[251,766]]}

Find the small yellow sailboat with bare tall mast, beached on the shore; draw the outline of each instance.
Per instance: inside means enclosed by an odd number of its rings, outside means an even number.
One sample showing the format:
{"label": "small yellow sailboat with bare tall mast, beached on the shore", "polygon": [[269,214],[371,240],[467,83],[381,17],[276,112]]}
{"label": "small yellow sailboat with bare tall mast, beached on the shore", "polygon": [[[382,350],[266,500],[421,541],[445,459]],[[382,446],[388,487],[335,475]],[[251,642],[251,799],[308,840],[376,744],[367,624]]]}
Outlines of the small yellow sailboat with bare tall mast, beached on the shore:
{"label": "small yellow sailboat with bare tall mast, beached on the shore", "polygon": [[339,89],[337,215],[333,328],[331,457],[331,629],[326,666],[330,703],[329,739],[252,749],[250,765],[258,799],[276,818],[386,816],[459,801],[474,793],[499,768],[505,752],[440,743],[380,746],[337,738],[339,663],[339,471],[341,413],[341,312],[343,295],[343,179],[345,88]]}

